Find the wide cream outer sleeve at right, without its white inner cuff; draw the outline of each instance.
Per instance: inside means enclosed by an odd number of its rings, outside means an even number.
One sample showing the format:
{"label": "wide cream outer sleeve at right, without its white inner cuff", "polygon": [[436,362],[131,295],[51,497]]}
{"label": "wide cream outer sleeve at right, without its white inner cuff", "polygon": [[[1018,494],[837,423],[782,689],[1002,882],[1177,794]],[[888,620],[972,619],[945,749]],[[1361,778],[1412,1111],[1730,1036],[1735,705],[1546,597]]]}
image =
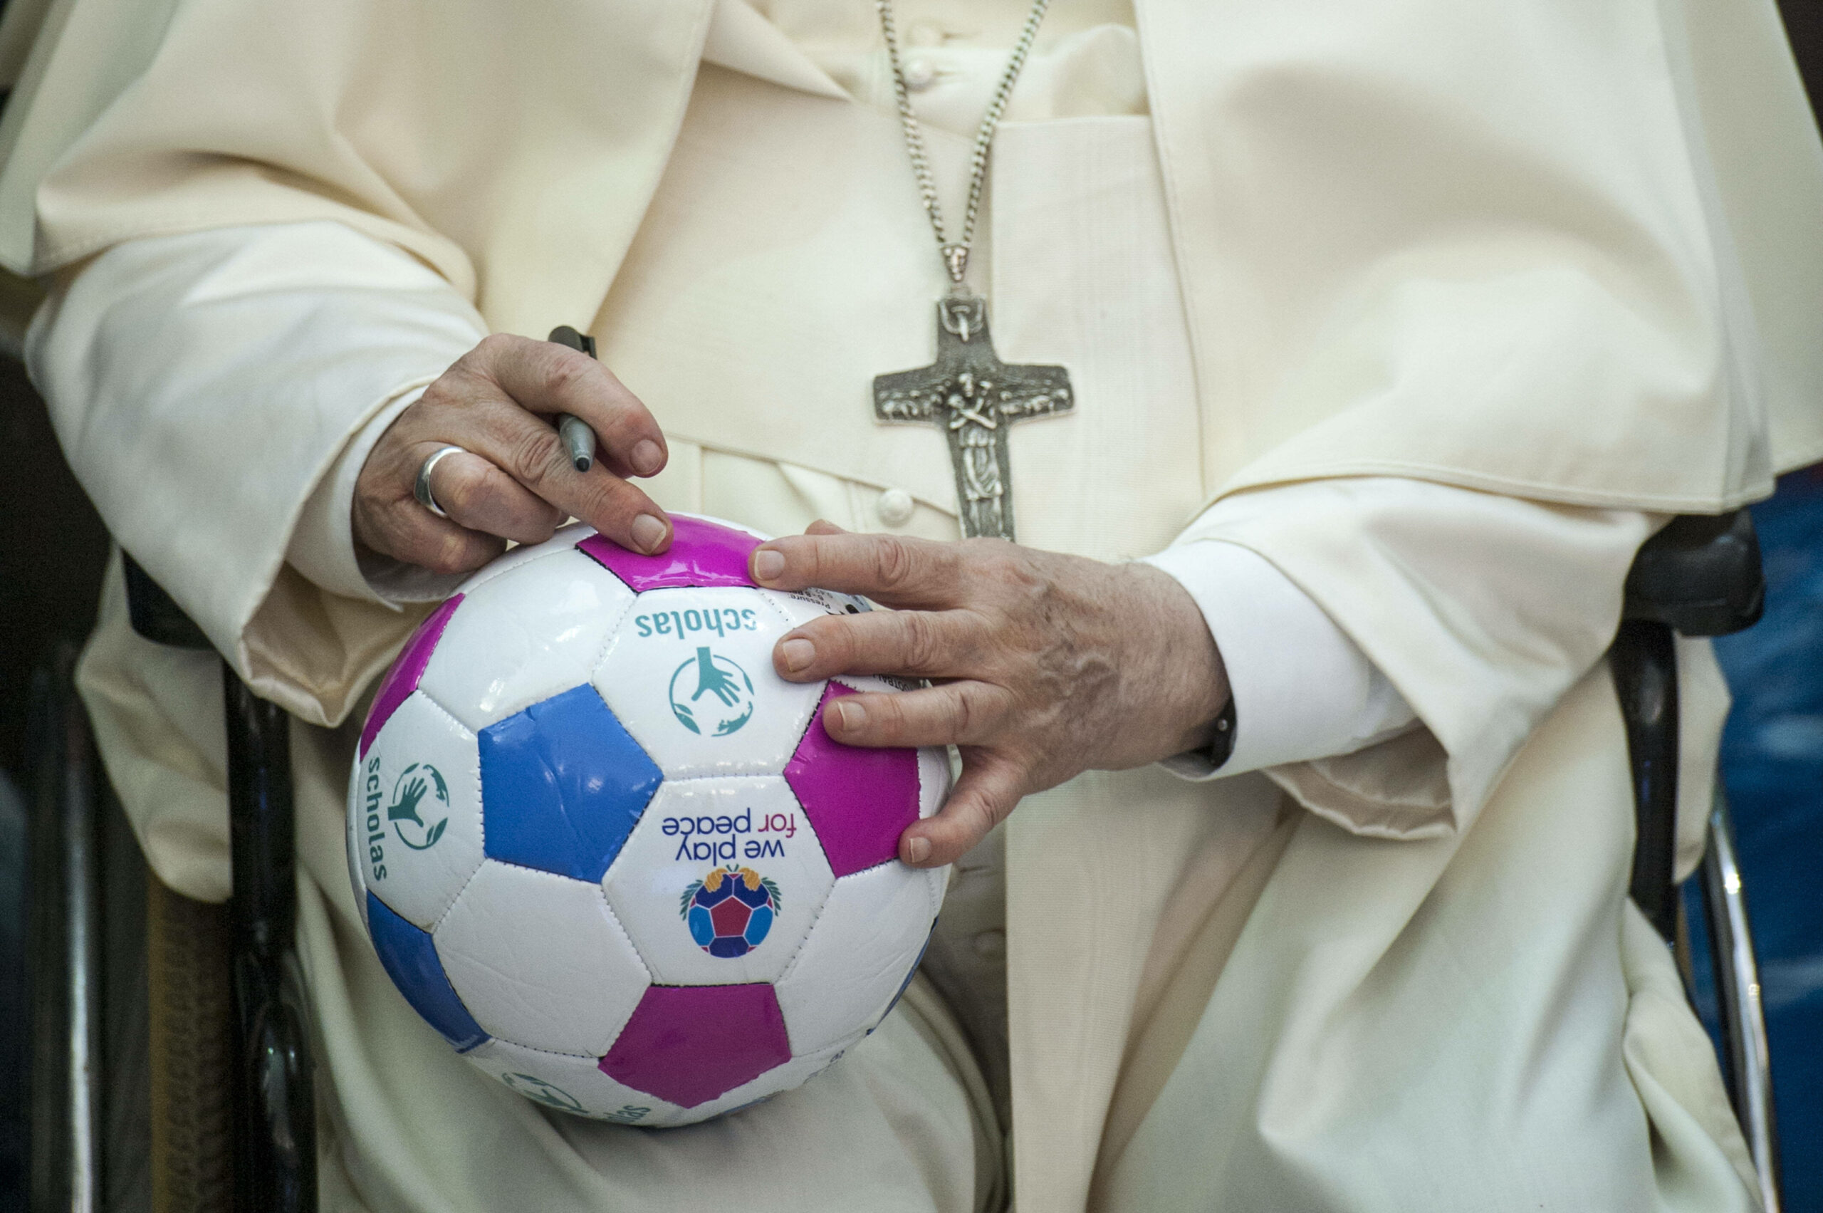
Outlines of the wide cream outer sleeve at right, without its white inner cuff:
{"label": "wide cream outer sleeve at right, without its white inner cuff", "polygon": [[[1338,755],[1276,773],[1285,788],[1347,828],[1438,837],[1475,819],[1526,737],[1606,653],[1626,569],[1663,522],[1468,489],[1437,509],[1364,478],[1238,492],[1178,544],[1227,540],[1272,560],[1427,726],[1385,742],[1407,755],[1396,773],[1385,755]],[[1447,783],[1426,779],[1438,746]],[[1338,792],[1382,808],[1349,812]]]}

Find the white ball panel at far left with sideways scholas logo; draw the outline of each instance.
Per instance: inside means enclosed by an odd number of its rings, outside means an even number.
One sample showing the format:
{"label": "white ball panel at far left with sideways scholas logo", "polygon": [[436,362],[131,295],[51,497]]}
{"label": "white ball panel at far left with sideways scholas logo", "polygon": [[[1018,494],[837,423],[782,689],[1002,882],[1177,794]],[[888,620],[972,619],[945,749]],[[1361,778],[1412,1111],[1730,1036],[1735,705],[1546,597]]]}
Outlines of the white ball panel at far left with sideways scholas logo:
{"label": "white ball panel at far left with sideways scholas logo", "polygon": [[481,866],[474,733],[414,691],[355,764],[348,801],[357,886],[430,930]]}

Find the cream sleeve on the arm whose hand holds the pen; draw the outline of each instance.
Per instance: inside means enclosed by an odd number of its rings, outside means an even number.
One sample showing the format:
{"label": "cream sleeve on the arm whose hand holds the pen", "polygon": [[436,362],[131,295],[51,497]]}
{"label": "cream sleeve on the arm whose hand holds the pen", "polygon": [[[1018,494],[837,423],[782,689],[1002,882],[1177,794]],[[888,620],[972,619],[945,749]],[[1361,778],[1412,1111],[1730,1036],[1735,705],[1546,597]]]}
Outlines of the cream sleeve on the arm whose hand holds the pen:
{"label": "cream sleeve on the arm whose hand holds the pen", "polygon": [[53,292],[26,359],[120,547],[255,691],[330,724],[414,622],[354,567],[365,452],[337,460],[485,334],[408,254],[301,223],[118,244]]}

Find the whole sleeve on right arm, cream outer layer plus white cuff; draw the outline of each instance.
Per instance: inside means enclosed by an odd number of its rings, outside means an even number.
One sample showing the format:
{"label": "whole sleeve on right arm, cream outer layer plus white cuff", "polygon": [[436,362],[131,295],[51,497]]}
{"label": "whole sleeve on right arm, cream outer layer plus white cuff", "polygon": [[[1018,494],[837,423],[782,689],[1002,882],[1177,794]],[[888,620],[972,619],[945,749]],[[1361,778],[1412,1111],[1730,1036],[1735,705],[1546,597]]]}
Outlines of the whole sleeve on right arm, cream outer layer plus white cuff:
{"label": "whole sleeve on right arm, cream outer layer plus white cuff", "polygon": [[1234,688],[1231,764],[1189,773],[1265,768],[1356,834],[1468,826],[1606,651],[1663,522],[1404,478],[1223,498],[1150,558],[1198,598]]}

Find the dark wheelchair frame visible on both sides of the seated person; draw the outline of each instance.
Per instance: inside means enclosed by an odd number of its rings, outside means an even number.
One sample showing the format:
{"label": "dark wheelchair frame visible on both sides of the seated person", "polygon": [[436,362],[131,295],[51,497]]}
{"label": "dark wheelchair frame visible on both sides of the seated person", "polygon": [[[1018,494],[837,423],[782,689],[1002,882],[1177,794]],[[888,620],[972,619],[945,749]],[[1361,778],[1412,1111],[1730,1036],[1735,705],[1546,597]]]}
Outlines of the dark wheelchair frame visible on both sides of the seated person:
{"label": "dark wheelchair frame visible on both sides of the seated person", "polygon": [[[208,638],[131,556],[126,567],[133,629],[148,640],[210,649]],[[1681,897],[1674,881],[1677,843],[1677,660],[1674,635],[1714,637],[1759,618],[1765,580],[1759,544],[1746,511],[1674,520],[1639,553],[1626,580],[1626,607],[1610,649],[1615,689],[1626,722],[1633,773],[1637,843],[1630,896],[1653,928],[1683,958]],[[228,728],[228,821],[233,863],[232,989],[233,1058],[233,1206],[244,1213],[314,1213],[315,1100],[310,1038],[295,954],[294,804],[290,719],[257,695],[222,662]],[[71,1209],[98,1208],[95,1147],[97,1020],[84,990],[93,989],[95,766],[84,750],[80,708],[64,704],[53,724],[66,773],[38,821],[38,870],[55,868],[62,927],[58,996],[40,1000],[38,1065],[60,1067],[62,1109],[35,1109],[35,1169],[67,1167]],[[62,731],[57,731],[62,730]],[[67,733],[67,737],[64,737]],[[82,733],[82,737],[78,737]],[[1699,874],[1705,919],[1715,958],[1721,1001],[1723,1058],[1734,1111],[1746,1133],[1766,1213],[1779,1213],[1777,1147],[1765,1014],[1752,936],[1734,855],[1726,801],[1717,792],[1708,819],[1708,846]],[[1688,985],[1688,963],[1684,963]],[[58,1111],[62,1115],[58,1115]],[[42,1133],[40,1133],[42,1129]],[[38,1138],[44,1140],[38,1140]]]}

